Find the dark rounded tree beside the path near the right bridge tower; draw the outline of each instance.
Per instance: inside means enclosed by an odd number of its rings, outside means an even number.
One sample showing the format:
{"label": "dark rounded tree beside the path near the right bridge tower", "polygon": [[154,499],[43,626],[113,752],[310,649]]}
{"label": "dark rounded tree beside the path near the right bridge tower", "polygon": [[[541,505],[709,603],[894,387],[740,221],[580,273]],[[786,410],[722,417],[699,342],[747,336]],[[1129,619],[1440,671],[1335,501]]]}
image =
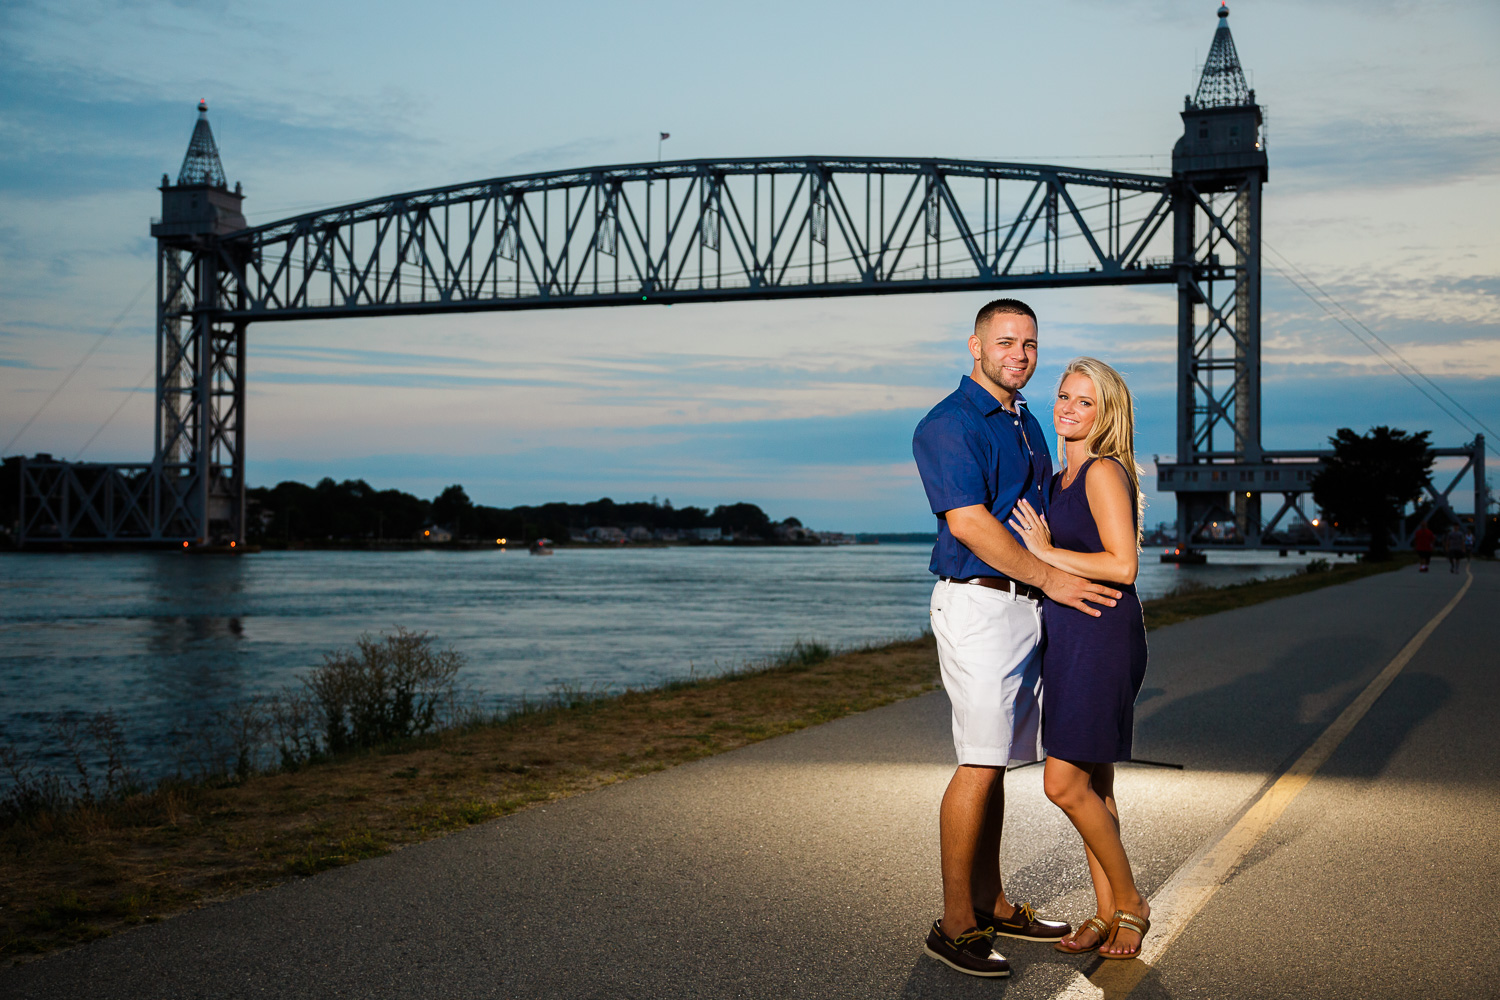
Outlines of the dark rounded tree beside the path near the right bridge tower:
{"label": "dark rounded tree beside the path near the right bridge tower", "polygon": [[1312,501],[1348,532],[1370,532],[1370,558],[1390,556],[1390,532],[1401,508],[1422,496],[1432,474],[1431,432],[1371,427],[1356,435],[1340,427],[1329,438],[1334,454],[1312,477]]}

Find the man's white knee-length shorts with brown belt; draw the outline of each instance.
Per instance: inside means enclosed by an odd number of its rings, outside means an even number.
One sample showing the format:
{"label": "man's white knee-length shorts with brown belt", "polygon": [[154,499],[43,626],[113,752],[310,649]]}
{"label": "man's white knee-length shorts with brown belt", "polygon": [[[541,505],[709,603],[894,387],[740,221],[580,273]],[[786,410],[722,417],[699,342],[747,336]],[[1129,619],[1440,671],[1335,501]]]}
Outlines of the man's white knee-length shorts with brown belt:
{"label": "man's white knee-length shorts with brown belt", "polygon": [[932,622],[958,763],[1041,760],[1041,601],[938,580]]}

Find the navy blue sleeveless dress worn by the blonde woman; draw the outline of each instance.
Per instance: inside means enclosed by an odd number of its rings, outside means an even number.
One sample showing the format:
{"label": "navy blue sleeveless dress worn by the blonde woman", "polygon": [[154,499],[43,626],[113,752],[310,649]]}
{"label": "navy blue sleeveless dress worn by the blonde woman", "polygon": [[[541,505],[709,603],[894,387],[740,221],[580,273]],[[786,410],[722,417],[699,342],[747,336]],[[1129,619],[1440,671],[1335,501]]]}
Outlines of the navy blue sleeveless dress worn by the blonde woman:
{"label": "navy blue sleeveless dress worn by the blonde woman", "polygon": [[[1052,478],[1047,525],[1059,549],[1104,552],[1084,490],[1094,462],[1083,463],[1068,489],[1062,472]],[[1110,763],[1131,756],[1136,696],[1146,678],[1146,621],[1134,585],[1100,582],[1124,592],[1114,607],[1090,604],[1100,618],[1052,600],[1042,604],[1041,742],[1048,757]]]}

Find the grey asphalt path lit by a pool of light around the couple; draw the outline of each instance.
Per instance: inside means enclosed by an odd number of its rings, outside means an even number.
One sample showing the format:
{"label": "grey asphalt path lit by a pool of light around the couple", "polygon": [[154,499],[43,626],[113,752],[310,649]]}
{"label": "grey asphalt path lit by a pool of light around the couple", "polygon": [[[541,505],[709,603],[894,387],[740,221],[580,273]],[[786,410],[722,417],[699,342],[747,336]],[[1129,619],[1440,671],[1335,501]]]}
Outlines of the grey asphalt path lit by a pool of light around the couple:
{"label": "grey asphalt path lit by a pool of light around the couple", "polygon": [[[1142,888],[1212,852],[1466,579],[1408,568],[1152,633],[1136,754],[1182,769],[1120,768]],[[1046,945],[1000,939],[1008,981],[922,957],[952,771],[939,691],[3,969],[0,997],[1497,996],[1497,597],[1500,565],[1474,564],[1125,988]],[[1006,789],[1008,892],[1088,916],[1041,768]]]}

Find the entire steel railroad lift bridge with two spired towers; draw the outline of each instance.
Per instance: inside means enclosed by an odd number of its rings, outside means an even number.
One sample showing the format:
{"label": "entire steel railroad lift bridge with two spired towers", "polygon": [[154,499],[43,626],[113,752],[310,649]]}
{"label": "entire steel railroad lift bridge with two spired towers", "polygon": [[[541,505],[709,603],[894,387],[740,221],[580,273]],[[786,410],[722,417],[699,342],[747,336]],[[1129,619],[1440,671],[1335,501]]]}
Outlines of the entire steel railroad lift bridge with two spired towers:
{"label": "entire steel railroad lift bridge with two spired towers", "polygon": [[[1220,9],[1170,175],[930,157],[699,159],[434,187],[248,226],[198,105],[152,222],[150,462],[21,466],[22,546],[244,546],[250,324],[747,298],[1173,285],[1178,547],[1358,547],[1260,444],[1263,114]],[[1467,459],[1484,510],[1484,438]],[[1280,495],[1270,519],[1262,498]],[[1221,526],[1233,525],[1226,532]],[[1398,540],[1402,543],[1406,540]]]}

